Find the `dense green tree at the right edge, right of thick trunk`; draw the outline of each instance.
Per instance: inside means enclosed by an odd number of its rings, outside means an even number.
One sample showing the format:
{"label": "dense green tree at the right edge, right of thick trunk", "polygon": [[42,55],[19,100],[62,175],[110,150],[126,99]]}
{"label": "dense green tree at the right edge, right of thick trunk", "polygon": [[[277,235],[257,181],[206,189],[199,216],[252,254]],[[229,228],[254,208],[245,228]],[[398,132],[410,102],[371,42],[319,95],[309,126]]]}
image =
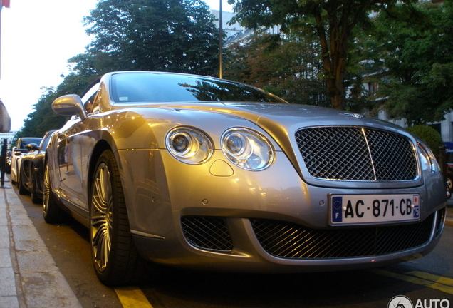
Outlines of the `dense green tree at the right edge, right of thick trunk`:
{"label": "dense green tree at the right edge, right of thick trunk", "polygon": [[368,48],[385,68],[378,95],[408,125],[440,121],[453,108],[453,1],[395,6],[378,16]]}

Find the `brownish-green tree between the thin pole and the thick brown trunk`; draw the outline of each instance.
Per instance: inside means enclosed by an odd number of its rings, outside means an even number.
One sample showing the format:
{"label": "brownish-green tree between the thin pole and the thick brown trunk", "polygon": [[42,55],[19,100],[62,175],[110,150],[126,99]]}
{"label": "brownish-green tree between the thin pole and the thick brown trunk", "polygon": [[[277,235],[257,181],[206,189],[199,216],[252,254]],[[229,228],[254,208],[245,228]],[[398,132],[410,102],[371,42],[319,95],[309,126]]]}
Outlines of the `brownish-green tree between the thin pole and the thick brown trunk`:
{"label": "brownish-green tree between the thin pole and the thick brown trunk", "polygon": [[280,96],[291,103],[326,106],[318,46],[310,40],[278,39],[269,34],[232,44],[224,76]]}

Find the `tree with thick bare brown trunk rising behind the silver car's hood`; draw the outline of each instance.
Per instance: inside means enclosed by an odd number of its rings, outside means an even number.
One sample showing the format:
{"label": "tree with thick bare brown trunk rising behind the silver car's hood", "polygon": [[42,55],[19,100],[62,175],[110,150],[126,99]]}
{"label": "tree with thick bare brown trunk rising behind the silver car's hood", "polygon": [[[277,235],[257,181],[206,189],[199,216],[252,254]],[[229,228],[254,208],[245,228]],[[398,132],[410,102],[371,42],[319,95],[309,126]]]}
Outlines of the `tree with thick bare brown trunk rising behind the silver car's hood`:
{"label": "tree with thick bare brown trunk rising behind the silver car's hood", "polygon": [[234,21],[248,28],[281,25],[283,33],[314,31],[321,46],[323,78],[331,106],[344,109],[343,81],[353,29],[366,26],[371,12],[391,9],[397,0],[229,0],[229,4],[235,4]]}

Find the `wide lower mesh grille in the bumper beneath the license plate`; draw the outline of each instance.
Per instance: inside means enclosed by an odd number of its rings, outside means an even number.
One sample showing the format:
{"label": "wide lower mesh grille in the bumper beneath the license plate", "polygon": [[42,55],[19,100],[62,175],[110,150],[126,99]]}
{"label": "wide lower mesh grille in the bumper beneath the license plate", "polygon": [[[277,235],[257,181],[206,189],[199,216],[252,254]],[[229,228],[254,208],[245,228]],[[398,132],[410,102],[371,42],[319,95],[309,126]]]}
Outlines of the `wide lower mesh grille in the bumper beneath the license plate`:
{"label": "wide lower mesh grille in the bumper beneath the license plate", "polygon": [[282,258],[372,257],[408,250],[429,241],[434,214],[410,225],[314,230],[277,220],[253,219],[261,246]]}

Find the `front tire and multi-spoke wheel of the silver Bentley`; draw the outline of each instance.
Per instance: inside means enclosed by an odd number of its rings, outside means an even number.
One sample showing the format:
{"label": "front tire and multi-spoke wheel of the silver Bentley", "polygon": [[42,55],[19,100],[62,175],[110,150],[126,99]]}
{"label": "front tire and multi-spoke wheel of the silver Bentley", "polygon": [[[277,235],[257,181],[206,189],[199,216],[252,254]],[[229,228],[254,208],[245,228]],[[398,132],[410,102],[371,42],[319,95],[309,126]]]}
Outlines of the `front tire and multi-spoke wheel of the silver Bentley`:
{"label": "front tire and multi-spoke wheel of the silver Bentley", "polygon": [[96,275],[108,286],[137,283],[145,267],[132,240],[120,173],[111,150],[100,155],[93,175],[90,245]]}

